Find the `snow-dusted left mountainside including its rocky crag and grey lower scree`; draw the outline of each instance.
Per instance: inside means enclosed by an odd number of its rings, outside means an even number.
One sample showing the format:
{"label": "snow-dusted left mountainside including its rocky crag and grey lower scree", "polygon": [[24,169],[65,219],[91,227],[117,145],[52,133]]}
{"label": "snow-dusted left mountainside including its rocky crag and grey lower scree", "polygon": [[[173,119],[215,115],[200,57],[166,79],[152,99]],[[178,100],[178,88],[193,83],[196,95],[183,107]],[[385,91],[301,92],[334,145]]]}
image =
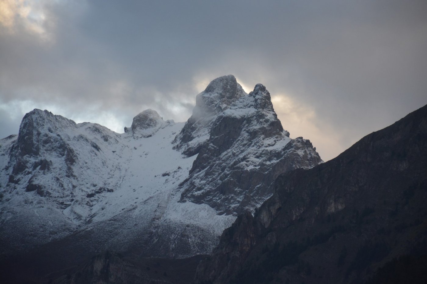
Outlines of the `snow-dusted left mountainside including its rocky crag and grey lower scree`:
{"label": "snow-dusted left mountainside including its rocky crag and grey lower scree", "polygon": [[158,123],[146,137],[138,131],[151,125],[134,126],[136,135],[118,134],[48,111],[27,113],[18,136],[0,140],[1,254],[83,239],[73,250],[208,253],[234,218],[178,202],[176,188],[196,158],[172,149],[184,123]]}

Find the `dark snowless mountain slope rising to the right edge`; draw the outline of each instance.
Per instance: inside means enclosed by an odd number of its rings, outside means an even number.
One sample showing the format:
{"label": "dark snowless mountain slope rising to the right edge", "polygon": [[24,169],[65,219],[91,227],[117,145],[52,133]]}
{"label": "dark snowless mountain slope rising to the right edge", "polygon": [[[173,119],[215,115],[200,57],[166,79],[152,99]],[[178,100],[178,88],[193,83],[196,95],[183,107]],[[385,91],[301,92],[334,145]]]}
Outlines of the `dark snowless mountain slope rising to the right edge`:
{"label": "dark snowless mountain slope rising to the right edge", "polygon": [[196,283],[424,283],[427,106],[314,168],[281,174],[225,229]]}

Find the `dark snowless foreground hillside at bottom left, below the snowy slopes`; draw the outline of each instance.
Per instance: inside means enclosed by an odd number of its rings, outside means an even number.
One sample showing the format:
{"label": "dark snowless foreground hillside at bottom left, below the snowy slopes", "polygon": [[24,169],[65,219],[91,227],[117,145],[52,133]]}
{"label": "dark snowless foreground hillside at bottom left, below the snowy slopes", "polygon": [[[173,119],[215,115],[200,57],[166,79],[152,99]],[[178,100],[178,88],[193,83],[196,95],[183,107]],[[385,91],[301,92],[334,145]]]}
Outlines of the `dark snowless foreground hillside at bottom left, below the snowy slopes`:
{"label": "dark snowless foreground hillside at bottom left, below the snowy slopes", "polygon": [[193,283],[197,265],[204,257],[135,258],[107,251],[82,260],[80,265],[58,270],[58,267],[64,267],[67,259],[63,259],[61,264],[54,264],[46,255],[32,254],[11,259],[8,264],[4,264],[0,283],[190,284]]}

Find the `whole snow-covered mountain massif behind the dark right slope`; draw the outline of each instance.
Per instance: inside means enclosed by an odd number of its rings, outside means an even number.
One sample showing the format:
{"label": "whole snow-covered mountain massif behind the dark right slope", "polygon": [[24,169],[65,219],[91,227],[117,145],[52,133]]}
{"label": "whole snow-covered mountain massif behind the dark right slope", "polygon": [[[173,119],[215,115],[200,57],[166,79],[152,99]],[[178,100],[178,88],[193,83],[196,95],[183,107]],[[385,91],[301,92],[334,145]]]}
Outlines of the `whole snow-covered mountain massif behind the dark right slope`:
{"label": "whole snow-covered mountain massif behind the dark right slope", "polygon": [[40,245],[209,253],[275,177],[322,162],[309,140],[289,138],[263,85],[248,95],[232,75],[197,95],[185,123],[144,110],[119,134],[35,109],[0,140],[0,157],[3,256]]}

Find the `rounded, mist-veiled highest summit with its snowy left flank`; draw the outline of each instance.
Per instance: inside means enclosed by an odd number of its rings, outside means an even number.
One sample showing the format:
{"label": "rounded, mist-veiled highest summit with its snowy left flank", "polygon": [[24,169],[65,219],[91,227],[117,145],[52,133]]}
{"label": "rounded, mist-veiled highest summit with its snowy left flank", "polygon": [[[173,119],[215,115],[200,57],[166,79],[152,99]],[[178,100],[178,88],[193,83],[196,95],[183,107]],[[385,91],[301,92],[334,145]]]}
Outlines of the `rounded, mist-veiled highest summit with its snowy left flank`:
{"label": "rounded, mist-veiled highest summit with its snowy left flank", "polygon": [[208,142],[216,116],[243,96],[246,96],[246,93],[233,75],[211,81],[208,87],[196,96],[192,116],[174,139],[174,143],[177,143],[175,148],[187,156],[199,153],[202,146]]}

